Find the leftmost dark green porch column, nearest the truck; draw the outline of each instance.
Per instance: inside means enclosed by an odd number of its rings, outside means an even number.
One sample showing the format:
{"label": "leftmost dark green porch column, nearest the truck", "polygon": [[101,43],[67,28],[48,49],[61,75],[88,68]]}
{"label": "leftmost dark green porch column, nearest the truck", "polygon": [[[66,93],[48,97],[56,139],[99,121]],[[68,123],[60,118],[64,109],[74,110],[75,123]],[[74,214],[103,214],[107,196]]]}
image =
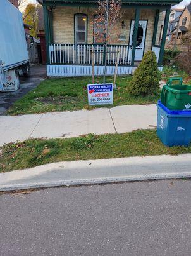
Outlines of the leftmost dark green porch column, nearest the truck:
{"label": "leftmost dark green porch column, nearest the truck", "polygon": [[50,28],[49,28],[49,15],[48,15],[48,10],[46,5],[43,5],[43,13],[44,13],[44,32],[45,32],[45,39],[46,39],[46,63],[50,64],[50,58],[49,58]]}

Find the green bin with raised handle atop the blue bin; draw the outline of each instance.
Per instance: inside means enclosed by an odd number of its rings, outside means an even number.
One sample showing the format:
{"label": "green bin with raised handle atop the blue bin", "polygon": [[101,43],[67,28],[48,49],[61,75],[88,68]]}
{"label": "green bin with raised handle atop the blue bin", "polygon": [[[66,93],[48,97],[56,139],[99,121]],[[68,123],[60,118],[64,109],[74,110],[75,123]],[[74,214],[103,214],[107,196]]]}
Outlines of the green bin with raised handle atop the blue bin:
{"label": "green bin with raised handle atop the blue bin", "polygon": [[161,91],[161,102],[171,110],[191,110],[191,85],[182,84],[182,78],[169,79]]}

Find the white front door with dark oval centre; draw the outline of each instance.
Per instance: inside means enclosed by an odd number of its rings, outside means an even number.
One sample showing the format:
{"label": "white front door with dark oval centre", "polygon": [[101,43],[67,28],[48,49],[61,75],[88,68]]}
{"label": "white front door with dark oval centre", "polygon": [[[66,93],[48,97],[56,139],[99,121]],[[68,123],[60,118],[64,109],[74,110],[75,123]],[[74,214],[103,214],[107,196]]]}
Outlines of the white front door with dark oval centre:
{"label": "white front door with dark oval centre", "polygon": [[[130,46],[132,46],[132,44],[133,44],[134,25],[135,25],[135,20],[132,20],[131,28],[130,28]],[[146,30],[147,30],[147,20],[139,20],[139,26],[138,26],[138,31],[137,31],[136,50],[135,50],[135,61],[142,60],[142,57],[144,55]]]}

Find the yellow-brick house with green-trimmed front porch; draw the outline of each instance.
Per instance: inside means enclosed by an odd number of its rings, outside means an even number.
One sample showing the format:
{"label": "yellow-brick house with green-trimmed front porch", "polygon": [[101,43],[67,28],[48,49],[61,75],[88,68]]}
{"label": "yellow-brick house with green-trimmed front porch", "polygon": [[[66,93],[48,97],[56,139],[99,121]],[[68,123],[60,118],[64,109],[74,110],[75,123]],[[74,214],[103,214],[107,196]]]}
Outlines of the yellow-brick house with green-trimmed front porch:
{"label": "yellow-brick house with green-trimmed front porch", "polygon": [[[94,47],[95,74],[113,74],[117,52],[118,74],[132,74],[145,52],[156,53],[161,67],[171,6],[180,0],[121,0],[123,17],[118,20],[120,34],[113,32],[113,44],[104,49],[96,43],[95,0],[39,0],[44,8],[48,76],[89,76],[92,74]],[[163,33],[162,15],[165,11]],[[161,36],[161,40],[160,40]],[[159,44],[160,42],[160,44]],[[105,53],[108,53],[107,56]]]}

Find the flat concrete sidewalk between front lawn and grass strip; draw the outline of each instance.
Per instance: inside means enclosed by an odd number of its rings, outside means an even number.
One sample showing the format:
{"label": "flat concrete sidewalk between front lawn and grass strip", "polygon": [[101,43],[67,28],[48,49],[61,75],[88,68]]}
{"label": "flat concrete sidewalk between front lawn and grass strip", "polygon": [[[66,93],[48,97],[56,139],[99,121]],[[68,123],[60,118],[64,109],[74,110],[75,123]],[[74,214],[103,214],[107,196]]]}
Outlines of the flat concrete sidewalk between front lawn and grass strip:
{"label": "flat concrete sidewalk between front lawn and grass strip", "polygon": [[28,138],[70,138],[87,133],[125,133],[153,128],[156,126],[156,119],[156,104],[0,116],[0,145]]}

